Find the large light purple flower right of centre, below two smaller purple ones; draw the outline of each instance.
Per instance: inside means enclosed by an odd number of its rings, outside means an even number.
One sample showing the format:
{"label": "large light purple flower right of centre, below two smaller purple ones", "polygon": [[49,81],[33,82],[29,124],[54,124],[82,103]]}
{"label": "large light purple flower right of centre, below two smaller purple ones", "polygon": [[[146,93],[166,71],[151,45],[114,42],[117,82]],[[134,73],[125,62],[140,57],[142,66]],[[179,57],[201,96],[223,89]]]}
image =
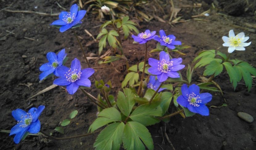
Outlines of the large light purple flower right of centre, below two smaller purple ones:
{"label": "large light purple flower right of centre, below two smaller purple ones", "polygon": [[160,52],[159,60],[154,58],[148,59],[148,63],[151,65],[148,72],[153,75],[157,75],[159,82],[164,82],[168,77],[180,77],[179,73],[176,71],[185,67],[185,65],[180,65],[181,62],[182,58],[173,58],[170,60],[169,55],[162,51]]}

